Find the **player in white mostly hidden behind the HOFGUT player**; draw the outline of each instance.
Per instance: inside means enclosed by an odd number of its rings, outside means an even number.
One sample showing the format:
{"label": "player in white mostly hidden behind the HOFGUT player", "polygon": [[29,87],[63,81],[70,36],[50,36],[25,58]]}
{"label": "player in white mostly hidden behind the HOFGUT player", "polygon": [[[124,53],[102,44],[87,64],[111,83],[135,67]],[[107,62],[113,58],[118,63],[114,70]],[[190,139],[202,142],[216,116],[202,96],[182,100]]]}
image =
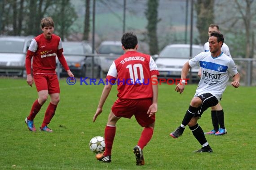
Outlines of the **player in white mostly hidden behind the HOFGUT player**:
{"label": "player in white mostly hidden behind the HOFGUT player", "polygon": [[[211,24],[208,28],[208,35],[210,36],[210,34],[213,31],[220,32],[219,26],[216,24]],[[204,44],[204,51],[210,51],[209,42],[206,42]],[[223,45],[221,47],[221,51],[225,55],[232,58],[230,55],[230,49],[225,43],[223,43]],[[201,76],[201,69],[199,70],[199,76]],[[211,107],[211,117],[212,117],[213,129],[210,132],[206,132],[205,134],[215,135],[215,136],[220,136],[220,135],[226,134],[227,130],[225,128],[225,123],[224,123],[224,111],[223,111],[223,108],[222,108],[220,102],[216,106]]]}

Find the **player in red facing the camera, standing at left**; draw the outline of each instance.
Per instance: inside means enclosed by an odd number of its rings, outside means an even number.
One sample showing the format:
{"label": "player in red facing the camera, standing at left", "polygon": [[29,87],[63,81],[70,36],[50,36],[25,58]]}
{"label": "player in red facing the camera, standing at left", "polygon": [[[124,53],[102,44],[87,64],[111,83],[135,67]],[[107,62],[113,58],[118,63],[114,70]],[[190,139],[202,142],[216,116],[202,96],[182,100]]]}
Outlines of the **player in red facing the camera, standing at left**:
{"label": "player in red facing the camera, standing at left", "polygon": [[[40,131],[53,132],[48,127],[57,104],[60,100],[59,81],[55,72],[56,56],[58,57],[63,68],[70,77],[74,77],[70,71],[66,59],[62,54],[61,38],[53,34],[54,22],[51,17],[46,17],[41,20],[41,29],[43,34],[32,39],[30,47],[26,54],[26,82],[32,87],[34,81],[38,92],[38,99],[32,105],[31,112],[25,119],[25,123],[30,131],[35,132],[34,118],[40,111],[41,106],[46,102],[48,94],[50,95],[50,103],[45,111],[44,121],[40,127]],[[31,75],[31,59],[33,57],[33,76]]]}

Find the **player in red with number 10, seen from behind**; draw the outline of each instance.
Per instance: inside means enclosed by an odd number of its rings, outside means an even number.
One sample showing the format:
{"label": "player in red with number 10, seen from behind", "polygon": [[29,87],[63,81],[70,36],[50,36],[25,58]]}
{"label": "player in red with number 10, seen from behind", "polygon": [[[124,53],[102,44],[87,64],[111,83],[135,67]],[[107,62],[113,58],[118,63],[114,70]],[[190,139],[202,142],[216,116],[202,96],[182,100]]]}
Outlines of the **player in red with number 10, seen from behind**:
{"label": "player in red with number 10, seen from behind", "polygon": [[105,128],[106,149],[104,153],[98,153],[96,158],[99,161],[111,161],[111,149],[116,131],[115,125],[121,117],[131,118],[134,115],[137,122],[144,129],[137,145],[133,148],[133,152],[136,156],[136,164],[144,165],[142,149],[153,135],[155,113],[157,112],[157,76],[159,72],[150,55],[137,52],[138,40],[135,34],[132,32],[125,33],[122,37],[122,45],[125,54],[121,55],[110,66],[106,76],[106,85],[93,117],[94,122],[97,116],[102,113],[104,102],[112,85],[116,83],[118,99],[110,110]]}

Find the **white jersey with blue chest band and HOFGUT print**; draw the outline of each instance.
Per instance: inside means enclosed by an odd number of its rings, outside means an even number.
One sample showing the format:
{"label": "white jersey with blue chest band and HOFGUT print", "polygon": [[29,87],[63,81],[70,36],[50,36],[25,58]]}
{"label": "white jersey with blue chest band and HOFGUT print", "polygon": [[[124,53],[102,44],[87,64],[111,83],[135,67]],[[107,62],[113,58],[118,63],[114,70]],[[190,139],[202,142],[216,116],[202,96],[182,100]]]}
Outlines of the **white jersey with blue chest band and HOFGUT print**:
{"label": "white jersey with blue chest band and HOFGUT print", "polygon": [[230,74],[234,76],[238,73],[234,60],[223,52],[216,58],[211,56],[210,51],[201,52],[190,59],[189,64],[192,68],[200,66],[202,70],[201,80],[194,97],[203,93],[211,93],[220,101]]}

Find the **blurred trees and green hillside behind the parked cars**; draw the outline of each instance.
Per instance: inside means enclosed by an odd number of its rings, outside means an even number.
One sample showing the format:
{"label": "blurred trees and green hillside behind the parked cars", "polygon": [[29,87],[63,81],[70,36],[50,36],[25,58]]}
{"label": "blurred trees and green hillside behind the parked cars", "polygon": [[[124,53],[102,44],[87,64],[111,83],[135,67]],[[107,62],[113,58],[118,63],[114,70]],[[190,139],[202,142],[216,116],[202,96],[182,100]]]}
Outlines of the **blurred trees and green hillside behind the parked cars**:
{"label": "blurred trees and green hillside behind the parked cars", "polygon": [[[140,50],[152,55],[167,44],[190,42],[192,0],[0,0],[0,34],[40,34],[40,19],[52,16],[63,40],[91,41],[93,2],[96,46],[119,40],[124,30],[136,32]],[[208,25],[216,23],[233,57],[254,57],[255,0],[193,2],[193,43],[205,43]]]}

